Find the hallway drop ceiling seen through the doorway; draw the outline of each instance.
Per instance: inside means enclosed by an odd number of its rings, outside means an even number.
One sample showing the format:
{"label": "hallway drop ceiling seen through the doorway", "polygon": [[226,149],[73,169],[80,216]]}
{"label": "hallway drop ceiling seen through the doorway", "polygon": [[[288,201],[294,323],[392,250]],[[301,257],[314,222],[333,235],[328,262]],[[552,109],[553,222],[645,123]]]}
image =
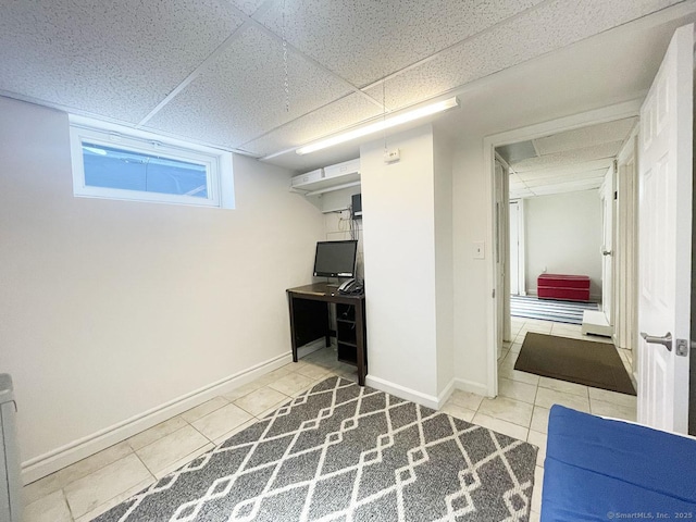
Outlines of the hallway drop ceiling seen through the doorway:
{"label": "hallway drop ceiling seen through the doorway", "polygon": [[598,189],[636,124],[626,117],[497,148],[510,166],[510,199]]}

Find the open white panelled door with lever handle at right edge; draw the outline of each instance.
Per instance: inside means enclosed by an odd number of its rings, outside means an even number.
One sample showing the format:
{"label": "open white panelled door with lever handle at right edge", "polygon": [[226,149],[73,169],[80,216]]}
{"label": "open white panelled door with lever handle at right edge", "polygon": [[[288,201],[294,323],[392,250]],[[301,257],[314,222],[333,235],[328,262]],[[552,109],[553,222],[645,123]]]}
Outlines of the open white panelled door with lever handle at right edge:
{"label": "open white panelled door with lever handle at right edge", "polygon": [[[679,28],[641,109],[638,422],[686,433],[694,25]],[[667,346],[659,337],[671,334]],[[652,336],[646,340],[644,334]],[[668,350],[668,347],[670,350]]]}

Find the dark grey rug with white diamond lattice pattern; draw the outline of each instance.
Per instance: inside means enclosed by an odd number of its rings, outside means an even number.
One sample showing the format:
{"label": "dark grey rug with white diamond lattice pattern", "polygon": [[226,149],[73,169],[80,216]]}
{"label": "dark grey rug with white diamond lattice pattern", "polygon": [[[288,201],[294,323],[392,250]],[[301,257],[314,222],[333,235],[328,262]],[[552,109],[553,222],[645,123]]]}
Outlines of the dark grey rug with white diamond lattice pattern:
{"label": "dark grey rug with white diamond lattice pattern", "polygon": [[536,451],[331,377],[95,520],[526,521]]}

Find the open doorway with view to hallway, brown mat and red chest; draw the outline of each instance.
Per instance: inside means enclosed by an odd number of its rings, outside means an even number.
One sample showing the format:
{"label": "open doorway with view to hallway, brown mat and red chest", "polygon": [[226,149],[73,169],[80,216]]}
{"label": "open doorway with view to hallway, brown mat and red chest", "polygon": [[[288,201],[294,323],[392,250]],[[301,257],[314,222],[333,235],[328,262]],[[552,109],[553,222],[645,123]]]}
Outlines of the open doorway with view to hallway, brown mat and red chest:
{"label": "open doorway with view to hallway, brown mat and red chest", "polygon": [[[624,104],[620,108],[595,111],[521,132],[507,133],[509,139],[507,142],[506,136],[497,142],[495,138],[490,139],[492,154],[497,154],[498,162],[507,167],[506,181],[509,190],[509,199],[505,202],[509,220],[500,223],[502,232],[497,233],[507,235],[509,238],[505,246],[498,244],[502,258],[498,270],[501,271],[504,278],[509,277],[509,291],[497,300],[498,314],[500,310],[510,310],[506,301],[509,302],[511,296],[536,299],[537,277],[543,273],[584,275],[587,272],[592,279],[593,300],[602,301],[602,288],[606,284],[607,291],[611,296],[608,299],[610,302],[606,313],[614,321],[616,309],[619,308],[618,304],[611,306],[611,300],[618,295],[616,285],[611,283],[612,272],[618,273],[616,251],[631,248],[631,245],[626,246],[625,241],[620,248],[614,248],[612,243],[617,229],[621,228],[620,220],[625,220],[625,216],[618,215],[620,209],[616,194],[619,189],[617,159],[631,141],[637,122],[636,111],[635,103],[631,108]],[[613,114],[613,117],[610,114]],[[523,139],[515,140],[513,137]],[[606,212],[602,196],[607,202]],[[499,201],[499,196],[496,197],[496,201]],[[592,220],[587,217],[589,208],[593,209]],[[580,214],[581,219],[575,222],[569,220],[573,212]],[[497,215],[499,212],[496,212]],[[594,234],[594,243],[584,241],[583,222],[589,221],[593,221],[594,228],[592,234]],[[546,229],[531,232],[531,227],[538,222],[546,223]],[[561,232],[555,228],[560,228]],[[554,234],[556,234],[555,239],[548,241],[546,246],[538,244],[539,237],[554,236]],[[567,243],[559,243],[563,240]],[[592,270],[586,268],[587,264],[579,263],[579,256],[572,252],[583,243],[591,245],[585,250],[586,257],[593,260]],[[569,251],[571,254],[567,258],[570,261],[567,260],[563,264],[561,254]],[[605,256],[604,252],[607,254]],[[620,277],[617,276],[614,279]],[[499,274],[496,281],[500,281]],[[626,291],[627,289],[624,289],[623,294],[625,295]],[[530,391],[526,388],[536,386],[538,389],[555,388],[552,393],[571,395],[573,391],[584,390],[585,397],[588,396],[587,387],[576,383],[564,383],[514,369],[517,357],[527,334],[550,334],[569,339],[588,340],[587,336],[583,335],[581,325],[544,319],[515,319],[511,318],[510,313],[504,314],[502,321],[506,322],[506,327],[499,331],[509,334],[499,336],[499,358],[496,361],[499,395],[518,400]],[[592,341],[613,340],[613,337],[612,339],[592,337]],[[617,352],[620,363],[626,366],[626,373],[632,374],[632,353],[621,349]],[[611,413],[605,411],[601,414],[635,420],[634,397],[624,401],[621,397],[610,395],[606,397],[618,398],[621,403],[612,405],[616,410]],[[533,406],[536,408],[538,405]]]}

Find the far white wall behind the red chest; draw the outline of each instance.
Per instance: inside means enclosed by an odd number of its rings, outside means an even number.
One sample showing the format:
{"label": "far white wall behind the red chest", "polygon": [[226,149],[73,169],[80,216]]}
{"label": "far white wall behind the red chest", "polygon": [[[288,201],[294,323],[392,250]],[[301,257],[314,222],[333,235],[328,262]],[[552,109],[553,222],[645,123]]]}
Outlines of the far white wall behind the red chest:
{"label": "far white wall behind the red chest", "polygon": [[589,293],[601,298],[601,200],[597,190],[525,198],[525,284],[549,274],[588,275]]}

